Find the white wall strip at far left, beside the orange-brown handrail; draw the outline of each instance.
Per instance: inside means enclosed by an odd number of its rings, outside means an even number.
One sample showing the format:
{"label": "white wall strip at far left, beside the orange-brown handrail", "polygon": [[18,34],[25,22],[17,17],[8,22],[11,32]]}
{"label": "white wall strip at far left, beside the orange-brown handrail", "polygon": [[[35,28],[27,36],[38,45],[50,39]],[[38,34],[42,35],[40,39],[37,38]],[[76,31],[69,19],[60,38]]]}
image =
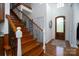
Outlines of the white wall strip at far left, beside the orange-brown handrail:
{"label": "white wall strip at far left, beside the orange-brown handrail", "polygon": [[8,20],[6,18],[6,14],[10,15],[10,4],[9,3],[5,3],[5,18],[4,18],[4,23],[1,24],[1,32],[3,32],[4,34],[8,34],[9,33],[9,29],[8,29]]}

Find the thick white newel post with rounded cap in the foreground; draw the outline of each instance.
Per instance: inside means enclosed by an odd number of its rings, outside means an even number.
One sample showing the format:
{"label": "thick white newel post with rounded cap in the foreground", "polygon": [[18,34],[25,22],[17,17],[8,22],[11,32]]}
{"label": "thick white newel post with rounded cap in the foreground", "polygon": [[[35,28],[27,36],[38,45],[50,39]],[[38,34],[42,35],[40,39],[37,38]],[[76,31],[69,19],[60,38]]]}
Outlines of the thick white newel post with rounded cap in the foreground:
{"label": "thick white newel post with rounded cap in the foreground", "polygon": [[22,56],[22,49],[21,49],[22,31],[21,31],[21,27],[17,27],[16,38],[17,38],[17,41],[18,41],[17,56]]}

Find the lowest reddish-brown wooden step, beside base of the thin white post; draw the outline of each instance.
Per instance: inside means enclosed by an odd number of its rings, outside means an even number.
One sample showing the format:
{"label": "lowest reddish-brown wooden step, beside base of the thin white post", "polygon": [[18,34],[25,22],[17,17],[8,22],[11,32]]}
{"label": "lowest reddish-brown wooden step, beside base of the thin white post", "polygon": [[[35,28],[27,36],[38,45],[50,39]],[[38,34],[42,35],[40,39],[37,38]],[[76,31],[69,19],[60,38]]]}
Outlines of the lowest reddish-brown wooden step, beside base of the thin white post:
{"label": "lowest reddish-brown wooden step, beside base of the thin white post", "polygon": [[30,52],[24,54],[27,56],[40,56],[43,53],[42,47],[37,47],[35,49],[32,49]]}

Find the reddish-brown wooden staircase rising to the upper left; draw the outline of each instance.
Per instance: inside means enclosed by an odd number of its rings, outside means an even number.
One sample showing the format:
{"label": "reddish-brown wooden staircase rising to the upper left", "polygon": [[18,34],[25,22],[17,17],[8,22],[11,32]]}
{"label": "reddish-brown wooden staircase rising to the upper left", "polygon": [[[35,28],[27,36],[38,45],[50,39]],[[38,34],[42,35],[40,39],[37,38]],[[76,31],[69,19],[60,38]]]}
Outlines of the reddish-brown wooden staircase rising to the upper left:
{"label": "reddish-brown wooden staircase rising to the upper left", "polygon": [[15,15],[15,13],[11,12],[11,15],[9,16],[15,27],[21,27],[23,37],[21,40],[22,44],[22,55],[23,56],[42,56],[43,48],[42,44],[37,42],[37,39],[33,38],[33,35],[31,32],[28,31],[28,29],[25,27],[25,25],[21,22],[20,19]]}

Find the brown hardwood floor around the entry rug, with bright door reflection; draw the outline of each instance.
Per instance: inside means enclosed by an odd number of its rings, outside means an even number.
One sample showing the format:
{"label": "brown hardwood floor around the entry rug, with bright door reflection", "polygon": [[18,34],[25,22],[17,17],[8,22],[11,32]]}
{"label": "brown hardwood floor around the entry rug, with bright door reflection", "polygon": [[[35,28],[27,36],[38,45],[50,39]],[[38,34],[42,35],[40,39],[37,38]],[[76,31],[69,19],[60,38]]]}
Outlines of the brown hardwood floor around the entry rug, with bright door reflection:
{"label": "brown hardwood floor around the entry rug, with bright door reflection", "polygon": [[66,47],[51,45],[51,42],[46,44],[45,56],[79,56],[79,48],[70,47],[67,41]]}

